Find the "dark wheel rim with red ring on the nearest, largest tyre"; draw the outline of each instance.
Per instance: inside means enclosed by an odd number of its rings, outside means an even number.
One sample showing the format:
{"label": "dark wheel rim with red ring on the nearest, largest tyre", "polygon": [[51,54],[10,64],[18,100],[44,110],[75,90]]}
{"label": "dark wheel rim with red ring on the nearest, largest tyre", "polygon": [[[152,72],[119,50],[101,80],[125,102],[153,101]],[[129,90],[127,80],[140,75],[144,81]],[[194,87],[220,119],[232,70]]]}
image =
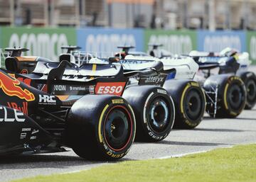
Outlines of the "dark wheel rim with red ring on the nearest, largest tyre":
{"label": "dark wheel rim with red ring on the nearest, largest tyre", "polygon": [[112,108],[105,118],[103,133],[110,149],[124,149],[132,138],[132,118],[128,110],[124,107]]}

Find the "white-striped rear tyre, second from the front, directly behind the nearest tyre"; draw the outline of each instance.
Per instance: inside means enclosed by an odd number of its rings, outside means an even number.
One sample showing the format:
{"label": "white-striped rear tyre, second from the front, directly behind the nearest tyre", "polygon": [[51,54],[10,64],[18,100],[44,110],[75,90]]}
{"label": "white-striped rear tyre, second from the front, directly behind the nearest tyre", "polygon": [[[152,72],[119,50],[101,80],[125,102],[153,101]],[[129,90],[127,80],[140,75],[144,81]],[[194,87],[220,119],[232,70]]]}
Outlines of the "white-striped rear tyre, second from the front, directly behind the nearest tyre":
{"label": "white-striped rear tyre, second from the front, directly behind the nearest tyre", "polygon": [[130,86],[123,97],[134,109],[136,140],[158,142],[164,140],[174,124],[174,103],[165,89],[156,86]]}

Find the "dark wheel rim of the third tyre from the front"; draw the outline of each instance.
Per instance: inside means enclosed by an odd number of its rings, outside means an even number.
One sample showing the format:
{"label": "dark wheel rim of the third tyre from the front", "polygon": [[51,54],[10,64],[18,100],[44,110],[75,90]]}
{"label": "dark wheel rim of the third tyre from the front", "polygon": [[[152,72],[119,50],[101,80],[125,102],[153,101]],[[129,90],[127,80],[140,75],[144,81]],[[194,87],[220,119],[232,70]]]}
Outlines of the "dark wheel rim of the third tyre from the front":
{"label": "dark wheel rim of the third tyre from the front", "polygon": [[202,112],[202,99],[198,91],[191,89],[186,94],[185,110],[186,115],[191,120],[197,120]]}

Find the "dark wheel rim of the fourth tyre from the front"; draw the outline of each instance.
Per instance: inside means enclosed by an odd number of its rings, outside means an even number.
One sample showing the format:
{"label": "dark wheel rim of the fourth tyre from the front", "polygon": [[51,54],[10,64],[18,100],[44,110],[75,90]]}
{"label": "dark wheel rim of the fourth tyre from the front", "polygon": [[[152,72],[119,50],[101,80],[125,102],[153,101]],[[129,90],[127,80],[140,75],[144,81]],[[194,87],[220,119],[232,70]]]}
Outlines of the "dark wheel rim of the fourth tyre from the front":
{"label": "dark wheel rim of the fourth tyre from the front", "polygon": [[233,84],[230,86],[230,89],[228,90],[228,103],[230,108],[238,110],[243,102],[242,99],[242,88],[238,84]]}

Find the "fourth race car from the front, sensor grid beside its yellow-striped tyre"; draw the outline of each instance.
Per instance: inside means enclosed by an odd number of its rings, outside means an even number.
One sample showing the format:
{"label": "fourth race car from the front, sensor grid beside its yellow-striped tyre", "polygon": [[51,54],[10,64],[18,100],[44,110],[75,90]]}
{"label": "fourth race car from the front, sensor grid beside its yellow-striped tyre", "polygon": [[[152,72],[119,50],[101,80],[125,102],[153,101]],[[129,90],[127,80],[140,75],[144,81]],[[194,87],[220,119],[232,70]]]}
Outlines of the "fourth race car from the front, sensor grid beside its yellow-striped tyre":
{"label": "fourth race car from the front, sensor grid beside its yellow-striped tyre", "polygon": [[[151,46],[153,48],[150,50],[150,54],[157,55],[161,57],[161,59],[174,57],[174,55],[166,50],[158,49],[161,45],[156,44]],[[200,74],[201,69],[213,69],[216,67],[216,64],[200,64],[195,57],[192,58],[199,64],[199,69],[194,80],[201,84],[206,93],[207,113],[212,117],[218,118],[235,118],[238,116],[245,108],[246,102],[245,84],[242,79],[233,74],[212,76],[208,74],[198,79],[198,74]]]}

